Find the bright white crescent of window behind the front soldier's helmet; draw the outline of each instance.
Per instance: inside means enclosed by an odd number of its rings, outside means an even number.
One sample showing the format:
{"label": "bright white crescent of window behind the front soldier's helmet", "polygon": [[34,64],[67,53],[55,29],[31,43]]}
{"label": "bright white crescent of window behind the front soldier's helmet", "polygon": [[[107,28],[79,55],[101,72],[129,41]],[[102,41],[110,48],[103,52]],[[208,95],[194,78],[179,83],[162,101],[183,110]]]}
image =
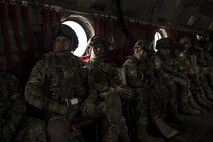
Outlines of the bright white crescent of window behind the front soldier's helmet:
{"label": "bright white crescent of window behind the front soldier's helmet", "polygon": [[78,37],[78,48],[74,51],[74,55],[80,57],[84,54],[85,50],[86,50],[86,46],[87,46],[87,35],[85,32],[85,29],[76,21],[65,21],[63,22],[63,24],[66,24],[68,26],[70,26],[76,33],[77,37]]}

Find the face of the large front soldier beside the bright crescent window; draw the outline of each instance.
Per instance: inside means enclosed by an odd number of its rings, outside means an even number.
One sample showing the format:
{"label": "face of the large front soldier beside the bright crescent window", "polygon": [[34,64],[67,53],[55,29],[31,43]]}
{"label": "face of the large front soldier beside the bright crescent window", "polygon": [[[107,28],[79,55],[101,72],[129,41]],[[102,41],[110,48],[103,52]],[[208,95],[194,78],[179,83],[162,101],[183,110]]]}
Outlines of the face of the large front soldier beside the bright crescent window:
{"label": "face of the large front soldier beside the bright crescent window", "polygon": [[71,48],[71,41],[65,36],[57,36],[53,43],[54,52],[69,51]]}

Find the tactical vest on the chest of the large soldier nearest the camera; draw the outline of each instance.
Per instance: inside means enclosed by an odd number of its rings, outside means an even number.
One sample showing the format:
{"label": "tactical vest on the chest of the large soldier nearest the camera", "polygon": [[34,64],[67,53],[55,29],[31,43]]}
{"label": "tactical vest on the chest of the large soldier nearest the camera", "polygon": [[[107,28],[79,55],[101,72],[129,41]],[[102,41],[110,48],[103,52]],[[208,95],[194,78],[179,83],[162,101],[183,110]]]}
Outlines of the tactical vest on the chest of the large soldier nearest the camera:
{"label": "tactical vest on the chest of the large soldier nearest the camera", "polygon": [[52,53],[46,57],[45,68],[47,97],[77,111],[86,97],[87,70],[84,65],[72,54],[57,57]]}

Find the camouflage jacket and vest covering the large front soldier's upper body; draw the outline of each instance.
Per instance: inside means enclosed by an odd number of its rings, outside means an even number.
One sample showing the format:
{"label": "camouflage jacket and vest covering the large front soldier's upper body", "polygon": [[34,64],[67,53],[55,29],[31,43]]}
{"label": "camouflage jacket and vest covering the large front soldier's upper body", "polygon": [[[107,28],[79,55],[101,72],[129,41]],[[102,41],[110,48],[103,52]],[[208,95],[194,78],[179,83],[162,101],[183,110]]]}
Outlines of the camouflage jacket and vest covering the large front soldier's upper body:
{"label": "camouflage jacket and vest covering the large front soldier's upper body", "polygon": [[72,109],[76,104],[78,109],[89,97],[87,73],[85,63],[73,54],[56,56],[51,52],[33,68],[26,84],[25,99],[50,112],[60,106]]}

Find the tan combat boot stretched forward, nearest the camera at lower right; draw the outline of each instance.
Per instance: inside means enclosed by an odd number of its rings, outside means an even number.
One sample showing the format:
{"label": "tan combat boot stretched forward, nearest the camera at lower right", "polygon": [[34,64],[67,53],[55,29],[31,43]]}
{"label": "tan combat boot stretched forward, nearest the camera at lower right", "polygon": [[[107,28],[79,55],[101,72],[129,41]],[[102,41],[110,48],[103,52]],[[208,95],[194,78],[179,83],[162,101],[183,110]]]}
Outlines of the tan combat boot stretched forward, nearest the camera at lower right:
{"label": "tan combat boot stretched forward, nearest the camera at lower right", "polygon": [[170,139],[172,137],[174,137],[177,133],[178,130],[172,128],[168,123],[166,123],[166,121],[159,117],[157,119],[154,120],[155,125],[157,126],[157,128],[159,129],[159,131],[161,132],[161,134],[163,136],[165,136],[167,139]]}

